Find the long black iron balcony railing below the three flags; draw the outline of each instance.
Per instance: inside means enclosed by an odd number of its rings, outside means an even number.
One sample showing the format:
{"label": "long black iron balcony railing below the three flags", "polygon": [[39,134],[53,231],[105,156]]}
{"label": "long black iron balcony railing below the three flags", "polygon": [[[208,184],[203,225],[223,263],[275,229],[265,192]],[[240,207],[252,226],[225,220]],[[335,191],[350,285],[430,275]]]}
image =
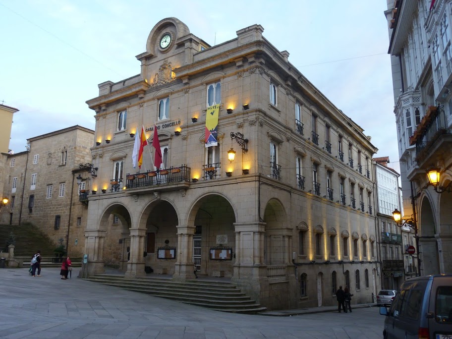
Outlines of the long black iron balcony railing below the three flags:
{"label": "long black iron balcony railing below the three flags", "polygon": [[148,170],[146,172],[128,173],[126,188],[138,188],[154,185],[170,184],[174,182],[189,182],[190,168],[186,165],[169,169]]}

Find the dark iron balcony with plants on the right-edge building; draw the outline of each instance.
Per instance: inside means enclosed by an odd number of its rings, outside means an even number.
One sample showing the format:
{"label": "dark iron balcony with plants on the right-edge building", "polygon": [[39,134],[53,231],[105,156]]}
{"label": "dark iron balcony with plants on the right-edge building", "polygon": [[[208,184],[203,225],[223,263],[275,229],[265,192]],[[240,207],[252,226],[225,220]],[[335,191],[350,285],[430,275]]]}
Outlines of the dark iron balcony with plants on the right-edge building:
{"label": "dark iron balcony with plants on the right-edge building", "polygon": [[418,124],[410,145],[416,145],[416,162],[420,168],[431,164],[440,153],[452,148],[452,129],[447,124],[444,106],[429,107],[426,115]]}

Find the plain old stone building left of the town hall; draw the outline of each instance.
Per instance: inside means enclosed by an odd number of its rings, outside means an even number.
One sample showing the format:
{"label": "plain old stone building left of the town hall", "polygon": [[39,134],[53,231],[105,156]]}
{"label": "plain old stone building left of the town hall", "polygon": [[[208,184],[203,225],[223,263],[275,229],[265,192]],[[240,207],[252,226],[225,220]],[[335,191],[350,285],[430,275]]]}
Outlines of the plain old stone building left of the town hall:
{"label": "plain old stone building left of the town hall", "polygon": [[54,242],[68,246],[69,255],[83,254],[87,207],[79,193],[90,177],[79,164],[91,163],[94,131],[72,126],[27,140],[27,151],[7,156],[0,224],[31,223]]}

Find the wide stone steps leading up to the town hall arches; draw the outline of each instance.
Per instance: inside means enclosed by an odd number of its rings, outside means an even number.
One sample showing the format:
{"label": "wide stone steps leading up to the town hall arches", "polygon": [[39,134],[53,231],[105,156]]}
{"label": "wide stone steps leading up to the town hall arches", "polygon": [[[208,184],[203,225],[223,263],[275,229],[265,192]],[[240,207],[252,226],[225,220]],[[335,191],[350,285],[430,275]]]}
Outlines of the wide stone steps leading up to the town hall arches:
{"label": "wide stone steps leading up to the town hall arches", "polygon": [[267,309],[251,300],[230,282],[201,280],[173,282],[169,279],[159,278],[132,280],[112,275],[95,275],[86,280],[207,307],[216,311],[255,314]]}

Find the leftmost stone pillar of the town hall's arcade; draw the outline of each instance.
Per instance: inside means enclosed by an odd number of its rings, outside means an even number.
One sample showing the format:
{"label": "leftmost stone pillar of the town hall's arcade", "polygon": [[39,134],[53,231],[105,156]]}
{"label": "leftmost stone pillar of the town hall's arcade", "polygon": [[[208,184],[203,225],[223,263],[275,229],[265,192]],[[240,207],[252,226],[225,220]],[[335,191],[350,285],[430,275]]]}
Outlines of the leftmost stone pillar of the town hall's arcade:
{"label": "leftmost stone pillar of the town hall's arcade", "polygon": [[88,276],[105,272],[105,230],[85,230],[85,254],[88,254]]}

